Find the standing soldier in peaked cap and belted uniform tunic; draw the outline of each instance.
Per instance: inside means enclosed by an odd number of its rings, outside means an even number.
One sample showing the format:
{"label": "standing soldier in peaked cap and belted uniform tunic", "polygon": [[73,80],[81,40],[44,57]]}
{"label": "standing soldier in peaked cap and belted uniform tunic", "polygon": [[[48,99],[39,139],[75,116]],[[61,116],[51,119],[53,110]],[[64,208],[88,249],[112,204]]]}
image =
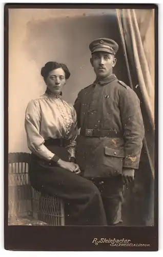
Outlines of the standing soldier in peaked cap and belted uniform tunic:
{"label": "standing soldier in peaked cap and belted uniform tunic", "polygon": [[140,101],[113,74],[118,44],[100,38],[89,48],[96,80],[75,100],[80,128],[76,160],[101,193],[108,225],[120,225],[124,185],[134,180],[144,138]]}

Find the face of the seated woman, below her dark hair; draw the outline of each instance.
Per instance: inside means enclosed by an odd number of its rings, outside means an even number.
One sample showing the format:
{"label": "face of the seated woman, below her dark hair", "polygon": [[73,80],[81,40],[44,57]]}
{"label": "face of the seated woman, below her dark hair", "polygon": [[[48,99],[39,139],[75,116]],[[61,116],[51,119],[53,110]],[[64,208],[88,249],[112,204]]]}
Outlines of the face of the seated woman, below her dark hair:
{"label": "face of the seated woman, below her dark hair", "polygon": [[66,82],[65,71],[62,68],[53,69],[46,78],[47,87],[52,93],[59,94]]}

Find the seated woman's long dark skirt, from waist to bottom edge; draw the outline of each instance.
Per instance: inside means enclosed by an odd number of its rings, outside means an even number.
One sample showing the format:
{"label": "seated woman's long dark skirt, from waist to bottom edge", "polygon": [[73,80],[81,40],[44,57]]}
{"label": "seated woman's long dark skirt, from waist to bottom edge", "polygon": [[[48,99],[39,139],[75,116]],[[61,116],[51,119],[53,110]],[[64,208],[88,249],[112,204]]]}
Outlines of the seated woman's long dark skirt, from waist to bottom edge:
{"label": "seated woman's long dark skirt, from waist to bottom edge", "polygon": [[[53,146],[48,149],[63,160],[67,160],[67,150]],[[64,200],[66,225],[106,226],[106,215],[100,193],[94,183],[86,178],[62,169],[57,164],[49,164],[31,154],[29,176],[31,185],[38,191]]]}

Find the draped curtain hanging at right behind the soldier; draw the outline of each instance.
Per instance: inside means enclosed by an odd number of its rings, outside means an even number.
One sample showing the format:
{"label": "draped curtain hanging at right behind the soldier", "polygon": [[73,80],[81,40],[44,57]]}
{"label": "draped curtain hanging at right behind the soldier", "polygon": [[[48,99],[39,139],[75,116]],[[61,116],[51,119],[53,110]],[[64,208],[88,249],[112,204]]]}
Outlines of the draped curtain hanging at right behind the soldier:
{"label": "draped curtain hanging at right behind the soldier", "polygon": [[[145,139],[139,169],[127,192],[128,225],[154,223],[154,10],[117,9],[130,87],[140,99]],[[129,210],[130,209],[130,210]]]}

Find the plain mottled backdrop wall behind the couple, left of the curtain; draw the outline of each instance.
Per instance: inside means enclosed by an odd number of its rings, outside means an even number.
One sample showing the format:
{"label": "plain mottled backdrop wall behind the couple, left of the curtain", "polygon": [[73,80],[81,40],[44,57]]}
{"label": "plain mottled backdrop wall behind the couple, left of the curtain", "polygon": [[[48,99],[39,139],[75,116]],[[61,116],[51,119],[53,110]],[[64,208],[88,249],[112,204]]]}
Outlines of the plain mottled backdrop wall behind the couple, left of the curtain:
{"label": "plain mottled backdrop wall behind the couple, left of the curtain", "polygon": [[89,44],[99,37],[117,41],[114,73],[128,83],[116,10],[11,9],[9,12],[9,152],[29,152],[24,117],[28,102],[45,92],[40,69],[48,61],[65,63],[70,72],[63,98],[74,103],[91,84]]}

